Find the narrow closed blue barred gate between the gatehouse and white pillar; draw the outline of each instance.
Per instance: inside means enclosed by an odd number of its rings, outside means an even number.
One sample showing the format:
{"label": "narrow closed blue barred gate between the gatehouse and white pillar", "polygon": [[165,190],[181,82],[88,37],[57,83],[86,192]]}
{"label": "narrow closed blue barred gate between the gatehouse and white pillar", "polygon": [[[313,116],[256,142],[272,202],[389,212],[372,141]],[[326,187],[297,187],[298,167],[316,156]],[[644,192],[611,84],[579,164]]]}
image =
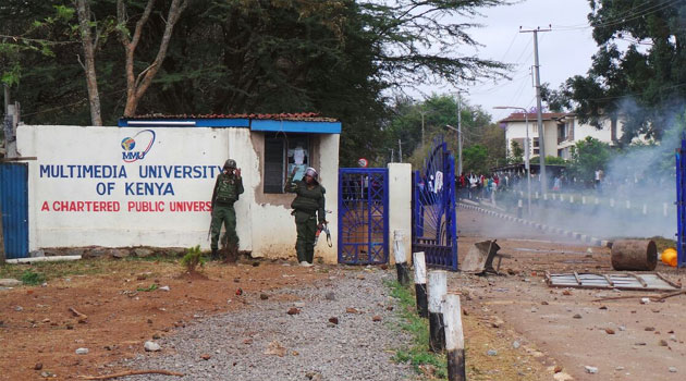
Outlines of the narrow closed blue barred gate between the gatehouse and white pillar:
{"label": "narrow closed blue barred gate between the gatehouse and white pillar", "polygon": [[339,263],[389,261],[389,170],[339,170]]}

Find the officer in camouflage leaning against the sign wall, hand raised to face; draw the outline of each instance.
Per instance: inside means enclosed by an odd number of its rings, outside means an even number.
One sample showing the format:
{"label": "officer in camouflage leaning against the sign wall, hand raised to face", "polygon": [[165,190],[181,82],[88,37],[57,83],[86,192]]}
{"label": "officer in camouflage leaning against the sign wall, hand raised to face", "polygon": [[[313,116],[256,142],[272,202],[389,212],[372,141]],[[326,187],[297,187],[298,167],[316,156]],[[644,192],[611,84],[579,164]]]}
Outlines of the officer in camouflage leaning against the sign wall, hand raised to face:
{"label": "officer in camouflage leaning against the sign wall, hand raised to face", "polygon": [[221,224],[226,230],[226,260],[235,261],[238,257],[238,235],[236,234],[236,211],[233,205],[238,200],[238,196],[243,193],[243,179],[241,177],[241,169],[236,168],[236,161],[233,159],[224,162],[223,171],[217,175],[215,183],[215,192],[212,192],[212,260],[217,260],[219,233]]}

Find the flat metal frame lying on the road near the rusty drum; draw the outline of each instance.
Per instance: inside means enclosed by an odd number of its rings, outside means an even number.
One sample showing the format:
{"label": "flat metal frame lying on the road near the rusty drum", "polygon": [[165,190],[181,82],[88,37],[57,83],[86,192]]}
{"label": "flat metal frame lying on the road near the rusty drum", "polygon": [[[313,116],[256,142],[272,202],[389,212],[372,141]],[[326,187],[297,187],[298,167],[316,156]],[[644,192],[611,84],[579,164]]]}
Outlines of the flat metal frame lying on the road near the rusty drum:
{"label": "flat metal frame lying on the road near the rusty drum", "polygon": [[547,273],[546,281],[551,287],[618,288],[628,291],[674,291],[681,288],[664,279],[660,273]]}

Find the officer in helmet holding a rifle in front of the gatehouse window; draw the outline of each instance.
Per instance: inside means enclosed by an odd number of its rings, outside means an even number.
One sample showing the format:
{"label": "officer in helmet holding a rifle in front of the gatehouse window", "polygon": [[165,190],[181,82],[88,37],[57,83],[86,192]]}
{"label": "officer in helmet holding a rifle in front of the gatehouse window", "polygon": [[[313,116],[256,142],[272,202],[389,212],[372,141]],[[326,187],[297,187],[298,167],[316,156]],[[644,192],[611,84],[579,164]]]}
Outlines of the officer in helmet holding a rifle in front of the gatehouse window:
{"label": "officer in helmet holding a rifle in front of the gatehouse window", "polygon": [[314,168],[308,168],[305,171],[303,180],[294,182],[293,176],[295,176],[296,170],[296,168],[293,169],[285,186],[285,192],[297,195],[291,204],[291,208],[294,209],[292,214],[295,216],[297,231],[295,250],[301,266],[313,266],[315,234],[317,228],[327,223],[324,219],[326,189],[317,181],[318,175]]}

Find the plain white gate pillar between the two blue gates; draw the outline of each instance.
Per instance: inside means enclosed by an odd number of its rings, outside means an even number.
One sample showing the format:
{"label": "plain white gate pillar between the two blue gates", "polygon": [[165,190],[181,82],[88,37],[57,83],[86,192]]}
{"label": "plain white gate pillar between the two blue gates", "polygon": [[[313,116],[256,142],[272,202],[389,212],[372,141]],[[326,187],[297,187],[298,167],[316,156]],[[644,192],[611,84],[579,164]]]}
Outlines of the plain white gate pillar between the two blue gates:
{"label": "plain white gate pillar between the two blue gates", "polygon": [[389,168],[389,253],[390,262],[395,262],[394,232],[403,232],[405,256],[412,262],[412,164],[390,163]]}

